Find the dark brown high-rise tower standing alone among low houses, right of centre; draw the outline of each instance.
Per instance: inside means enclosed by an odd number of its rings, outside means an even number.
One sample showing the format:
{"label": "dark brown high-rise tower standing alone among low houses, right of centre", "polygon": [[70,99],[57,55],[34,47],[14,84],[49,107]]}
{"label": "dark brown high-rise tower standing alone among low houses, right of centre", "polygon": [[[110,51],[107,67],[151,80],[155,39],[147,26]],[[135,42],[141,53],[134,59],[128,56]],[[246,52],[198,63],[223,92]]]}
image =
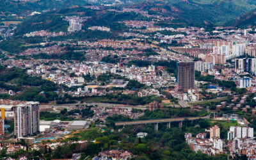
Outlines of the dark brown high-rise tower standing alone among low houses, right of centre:
{"label": "dark brown high-rise tower standing alone among low houses, right of centre", "polygon": [[177,62],[177,88],[184,92],[195,88],[195,63],[193,61]]}

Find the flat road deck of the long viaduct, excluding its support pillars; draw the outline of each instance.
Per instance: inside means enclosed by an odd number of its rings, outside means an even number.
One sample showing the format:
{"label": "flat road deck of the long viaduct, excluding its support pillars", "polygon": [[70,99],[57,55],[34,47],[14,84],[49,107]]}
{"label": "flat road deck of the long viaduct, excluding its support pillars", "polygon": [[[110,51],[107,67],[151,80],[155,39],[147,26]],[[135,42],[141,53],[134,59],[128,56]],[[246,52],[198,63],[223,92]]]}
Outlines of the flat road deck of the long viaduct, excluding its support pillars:
{"label": "flat road deck of the long viaduct, excluding its support pillars", "polygon": [[[188,120],[196,120],[198,118],[209,118],[209,116],[200,116],[200,117],[185,117]],[[179,122],[183,121],[185,118],[164,118],[164,119],[156,119],[156,120],[136,120],[129,122],[116,122],[115,125],[133,125],[133,124],[154,124],[161,122]]]}

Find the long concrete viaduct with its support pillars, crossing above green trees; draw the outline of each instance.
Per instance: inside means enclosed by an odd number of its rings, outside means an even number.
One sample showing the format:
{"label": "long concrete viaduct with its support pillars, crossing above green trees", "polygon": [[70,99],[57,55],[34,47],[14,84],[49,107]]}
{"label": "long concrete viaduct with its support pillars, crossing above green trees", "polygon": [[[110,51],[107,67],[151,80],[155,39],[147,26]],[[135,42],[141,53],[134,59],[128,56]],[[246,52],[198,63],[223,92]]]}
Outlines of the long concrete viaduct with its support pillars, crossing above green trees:
{"label": "long concrete viaduct with its support pillars, crossing above green trees", "polygon": [[167,128],[171,127],[171,122],[179,122],[179,127],[182,127],[182,121],[187,118],[191,123],[193,120],[202,118],[209,118],[209,116],[198,116],[198,117],[184,117],[184,118],[164,118],[164,119],[156,119],[156,120],[135,120],[128,122],[116,122],[115,125],[134,125],[134,124],[155,124],[155,130],[158,131],[158,123],[167,123]]}

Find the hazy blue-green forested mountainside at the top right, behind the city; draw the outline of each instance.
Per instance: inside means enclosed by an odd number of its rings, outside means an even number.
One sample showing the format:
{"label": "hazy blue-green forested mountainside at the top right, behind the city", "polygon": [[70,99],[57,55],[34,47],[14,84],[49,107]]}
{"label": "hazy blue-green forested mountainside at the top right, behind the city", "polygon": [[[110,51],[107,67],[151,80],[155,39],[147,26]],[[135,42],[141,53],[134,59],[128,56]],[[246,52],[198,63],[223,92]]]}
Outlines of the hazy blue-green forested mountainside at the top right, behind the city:
{"label": "hazy blue-green forested mountainside at the top right, behind the city", "polygon": [[129,8],[147,10],[150,14],[173,16],[186,24],[218,24],[223,25],[244,13],[256,9],[252,0],[164,0],[144,1]]}

